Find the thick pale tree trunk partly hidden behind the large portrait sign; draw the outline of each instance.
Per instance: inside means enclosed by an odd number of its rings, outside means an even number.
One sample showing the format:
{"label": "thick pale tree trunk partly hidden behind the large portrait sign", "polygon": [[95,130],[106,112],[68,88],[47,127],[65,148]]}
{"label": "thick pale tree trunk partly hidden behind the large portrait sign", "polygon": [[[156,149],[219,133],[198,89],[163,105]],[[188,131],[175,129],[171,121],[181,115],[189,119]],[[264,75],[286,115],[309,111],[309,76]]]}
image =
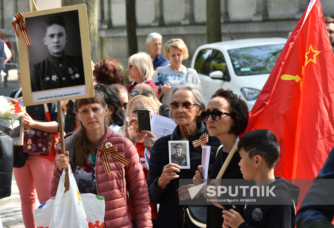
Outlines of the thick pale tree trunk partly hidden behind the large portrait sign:
{"label": "thick pale tree trunk partly hidden behind the large portrait sign", "polygon": [[98,0],[61,0],[61,6],[86,4],[91,58],[98,61]]}

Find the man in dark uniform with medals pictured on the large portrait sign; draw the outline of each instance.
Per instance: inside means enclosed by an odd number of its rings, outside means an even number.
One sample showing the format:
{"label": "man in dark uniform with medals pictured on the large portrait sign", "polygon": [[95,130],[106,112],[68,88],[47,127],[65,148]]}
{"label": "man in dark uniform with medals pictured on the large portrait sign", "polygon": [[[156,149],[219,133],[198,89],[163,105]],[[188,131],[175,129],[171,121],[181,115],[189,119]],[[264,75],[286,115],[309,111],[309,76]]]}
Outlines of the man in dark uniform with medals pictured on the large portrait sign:
{"label": "man in dark uniform with medals pictured on the large portrait sign", "polygon": [[30,67],[31,91],[57,89],[85,84],[82,56],[66,55],[66,23],[62,16],[47,17],[43,21],[44,45],[49,53],[43,61]]}

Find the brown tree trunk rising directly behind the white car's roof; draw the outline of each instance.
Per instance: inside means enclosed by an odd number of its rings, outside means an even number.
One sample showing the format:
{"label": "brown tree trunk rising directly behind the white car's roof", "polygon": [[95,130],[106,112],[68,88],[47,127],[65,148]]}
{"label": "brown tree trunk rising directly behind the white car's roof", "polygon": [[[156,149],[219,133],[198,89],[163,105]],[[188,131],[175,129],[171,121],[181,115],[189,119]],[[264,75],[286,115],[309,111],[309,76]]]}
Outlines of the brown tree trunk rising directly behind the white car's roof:
{"label": "brown tree trunk rising directly behind the white car's roof", "polygon": [[206,0],[207,43],[221,41],[220,0]]}

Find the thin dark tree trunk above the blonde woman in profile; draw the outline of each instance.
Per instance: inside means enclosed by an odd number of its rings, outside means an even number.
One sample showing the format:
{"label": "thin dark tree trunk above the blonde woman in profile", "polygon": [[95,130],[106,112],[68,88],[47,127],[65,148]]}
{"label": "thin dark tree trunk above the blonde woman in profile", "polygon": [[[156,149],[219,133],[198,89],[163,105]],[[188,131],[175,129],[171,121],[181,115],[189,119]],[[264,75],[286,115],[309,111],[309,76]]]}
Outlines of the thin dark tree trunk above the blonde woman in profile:
{"label": "thin dark tree trunk above the blonde woman in profile", "polygon": [[135,2],[135,0],[126,0],[126,30],[128,35],[129,56],[138,52]]}

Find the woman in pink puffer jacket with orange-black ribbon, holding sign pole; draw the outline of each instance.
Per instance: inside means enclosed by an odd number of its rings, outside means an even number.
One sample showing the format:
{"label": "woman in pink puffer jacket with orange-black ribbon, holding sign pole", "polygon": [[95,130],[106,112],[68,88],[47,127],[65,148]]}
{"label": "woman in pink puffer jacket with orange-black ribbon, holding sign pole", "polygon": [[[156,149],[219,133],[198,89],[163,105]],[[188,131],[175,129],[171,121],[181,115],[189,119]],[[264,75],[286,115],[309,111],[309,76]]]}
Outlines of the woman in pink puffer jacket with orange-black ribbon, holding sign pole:
{"label": "woman in pink puffer jacket with orange-black ribbon, holding sign pole", "polygon": [[[105,227],[132,227],[128,196],[132,199],[137,227],[152,227],[151,208],[136,148],[125,137],[115,134],[109,126],[108,106],[100,92],[91,98],[77,99],[74,112],[78,129],[65,136],[66,153],[58,151],[53,169],[51,195],[55,196],[60,173],[67,164],[76,180],[79,192],[105,197]],[[59,141],[55,144],[60,150]],[[102,151],[117,147],[122,160],[107,157]],[[105,169],[104,167],[108,167]]]}

